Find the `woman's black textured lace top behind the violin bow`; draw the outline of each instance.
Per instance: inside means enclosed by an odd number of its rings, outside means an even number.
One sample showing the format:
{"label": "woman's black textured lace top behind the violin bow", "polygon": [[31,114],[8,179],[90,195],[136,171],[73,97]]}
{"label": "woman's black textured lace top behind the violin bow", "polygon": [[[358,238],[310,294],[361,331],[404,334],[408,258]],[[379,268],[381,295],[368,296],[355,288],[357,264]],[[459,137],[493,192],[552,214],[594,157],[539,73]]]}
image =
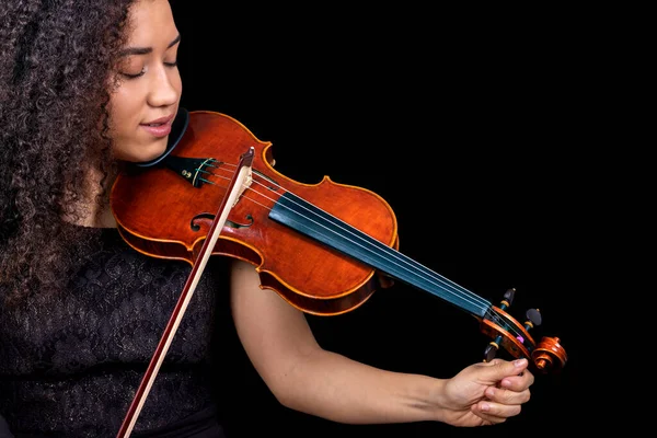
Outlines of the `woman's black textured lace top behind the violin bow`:
{"label": "woman's black textured lace top behind the violin bow", "polygon": [[[82,249],[68,290],[0,308],[0,416],[16,436],[115,437],[191,272],[130,249],[116,229],[79,232],[95,243]],[[212,415],[207,371],[215,304],[228,303],[223,263],[206,266],[132,436]]]}

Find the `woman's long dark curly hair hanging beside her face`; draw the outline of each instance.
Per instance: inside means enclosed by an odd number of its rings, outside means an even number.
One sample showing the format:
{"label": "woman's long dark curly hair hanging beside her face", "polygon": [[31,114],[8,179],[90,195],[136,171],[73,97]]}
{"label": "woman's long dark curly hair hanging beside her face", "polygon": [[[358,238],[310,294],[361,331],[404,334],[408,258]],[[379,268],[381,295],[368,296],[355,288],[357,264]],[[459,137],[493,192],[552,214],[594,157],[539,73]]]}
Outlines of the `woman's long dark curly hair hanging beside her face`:
{"label": "woman's long dark curly hair hanging beside her face", "polygon": [[[71,264],[81,175],[107,175],[110,79],[135,0],[0,4],[0,295],[56,290]],[[101,181],[99,198],[106,193]],[[104,192],[105,191],[105,192]],[[100,201],[100,199],[96,199]],[[78,215],[78,217],[76,216]]]}

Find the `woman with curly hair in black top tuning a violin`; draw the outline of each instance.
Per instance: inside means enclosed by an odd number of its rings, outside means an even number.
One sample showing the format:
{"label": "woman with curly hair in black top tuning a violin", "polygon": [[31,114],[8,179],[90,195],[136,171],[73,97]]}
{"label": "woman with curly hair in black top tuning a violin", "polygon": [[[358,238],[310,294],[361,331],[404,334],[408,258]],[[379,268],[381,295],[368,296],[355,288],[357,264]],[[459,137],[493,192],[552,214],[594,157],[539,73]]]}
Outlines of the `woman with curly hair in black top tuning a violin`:
{"label": "woman with curly hair in black top tuning a violin", "polygon": [[[124,243],[108,204],[122,166],[166,149],[181,36],[168,0],[1,8],[0,157],[12,171],[0,185],[0,415],[16,437],[115,436],[189,274]],[[527,360],[437,379],[325,350],[252,265],[212,260],[134,436],[223,436],[209,377],[230,359],[210,354],[227,336],[215,322],[223,310],[274,396],[318,417],[472,427],[530,399]]]}

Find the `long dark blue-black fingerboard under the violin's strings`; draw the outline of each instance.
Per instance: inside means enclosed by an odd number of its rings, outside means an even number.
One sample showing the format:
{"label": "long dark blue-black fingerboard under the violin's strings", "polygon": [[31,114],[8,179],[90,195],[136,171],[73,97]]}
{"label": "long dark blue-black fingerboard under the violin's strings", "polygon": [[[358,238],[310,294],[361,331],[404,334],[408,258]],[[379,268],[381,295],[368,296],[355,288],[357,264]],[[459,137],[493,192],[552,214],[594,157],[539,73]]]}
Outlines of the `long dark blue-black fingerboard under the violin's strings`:
{"label": "long dark blue-black fingerboard under the violin's strings", "polygon": [[269,218],[475,316],[483,318],[492,307],[462,286],[290,193],[278,199]]}

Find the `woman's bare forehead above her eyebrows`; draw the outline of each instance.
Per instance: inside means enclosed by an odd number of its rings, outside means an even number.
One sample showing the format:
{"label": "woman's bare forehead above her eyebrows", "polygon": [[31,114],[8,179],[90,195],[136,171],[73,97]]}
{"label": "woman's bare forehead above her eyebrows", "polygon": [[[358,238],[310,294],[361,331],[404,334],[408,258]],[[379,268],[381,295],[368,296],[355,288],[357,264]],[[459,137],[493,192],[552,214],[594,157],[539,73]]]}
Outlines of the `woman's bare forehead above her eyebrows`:
{"label": "woman's bare forehead above her eyebrows", "polygon": [[150,46],[153,41],[168,43],[177,36],[169,0],[137,0],[129,11],[128,44]]}

